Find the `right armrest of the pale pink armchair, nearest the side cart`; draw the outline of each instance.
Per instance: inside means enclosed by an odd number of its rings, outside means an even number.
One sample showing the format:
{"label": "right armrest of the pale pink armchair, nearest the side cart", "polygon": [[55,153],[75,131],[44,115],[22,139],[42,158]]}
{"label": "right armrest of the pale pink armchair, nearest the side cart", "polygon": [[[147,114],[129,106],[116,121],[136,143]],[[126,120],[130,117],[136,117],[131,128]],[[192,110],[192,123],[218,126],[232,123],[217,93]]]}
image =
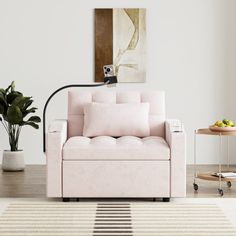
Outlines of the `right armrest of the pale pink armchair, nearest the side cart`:
{"label": "right armrest of the pale pink armchair, nearest the side cart", "polygon": [[[170,147],[171,197],[186,196],[186,133],[179,120],[165,122],[166,141]],[[178,131],[178,132],[177,132]]]}

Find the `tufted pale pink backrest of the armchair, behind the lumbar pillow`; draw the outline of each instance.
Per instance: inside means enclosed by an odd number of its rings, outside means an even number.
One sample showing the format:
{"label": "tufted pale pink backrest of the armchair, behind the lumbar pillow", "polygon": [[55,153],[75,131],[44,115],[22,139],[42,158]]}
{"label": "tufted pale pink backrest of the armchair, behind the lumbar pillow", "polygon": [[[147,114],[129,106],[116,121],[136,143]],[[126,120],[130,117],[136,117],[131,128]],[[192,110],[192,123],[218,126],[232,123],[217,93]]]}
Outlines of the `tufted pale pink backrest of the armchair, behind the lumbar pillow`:
{"label": "tufted pale pink backrest of the armchair, behind the lumbar pillow", "polygon": [[[142,103],[150,104],[149,124],[151,136],[164,137],[165,93],[163,91],[106,91],[75,90],[68,93],[68,138],[83,135],[84,105],[97,103]],[[99,119],[99,117],[98,117]]]}

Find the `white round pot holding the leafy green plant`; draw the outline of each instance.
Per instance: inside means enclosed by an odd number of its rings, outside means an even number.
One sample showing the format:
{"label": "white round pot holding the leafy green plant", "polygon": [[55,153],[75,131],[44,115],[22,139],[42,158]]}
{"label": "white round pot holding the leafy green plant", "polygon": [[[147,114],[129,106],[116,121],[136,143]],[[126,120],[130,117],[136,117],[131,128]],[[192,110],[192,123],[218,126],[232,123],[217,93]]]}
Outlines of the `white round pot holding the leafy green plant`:
{"label": "white round pot holding the leafy green plant", "polygon": [[2,169],[4,171],[22,171],[25,169],[24,151],[3,151]]}

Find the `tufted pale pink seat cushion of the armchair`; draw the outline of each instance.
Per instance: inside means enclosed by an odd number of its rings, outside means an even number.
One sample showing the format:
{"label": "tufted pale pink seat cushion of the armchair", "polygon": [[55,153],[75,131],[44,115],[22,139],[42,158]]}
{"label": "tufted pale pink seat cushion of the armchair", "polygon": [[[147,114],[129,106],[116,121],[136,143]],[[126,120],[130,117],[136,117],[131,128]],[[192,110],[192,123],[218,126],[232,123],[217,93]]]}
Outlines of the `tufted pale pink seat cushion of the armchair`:
{"label": "tufted pale pink seat cushion of the armchair", "polygon": [[63,147],[64,160],[168,160],[170,149],[157,136],[71,137]]}

